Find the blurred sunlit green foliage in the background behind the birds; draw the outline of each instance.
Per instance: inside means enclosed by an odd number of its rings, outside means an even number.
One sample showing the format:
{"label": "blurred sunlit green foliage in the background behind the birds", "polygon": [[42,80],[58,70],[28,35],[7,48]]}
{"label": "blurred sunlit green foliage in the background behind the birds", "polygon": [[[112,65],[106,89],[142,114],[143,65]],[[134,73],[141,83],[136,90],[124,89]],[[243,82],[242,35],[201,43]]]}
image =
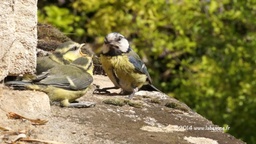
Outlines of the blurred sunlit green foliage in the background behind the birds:
{"label": "blurred sunlit green foliage in the background behind the birds", "polygon": [[38,21],[93,47],[121,33],[159,90],[256,144],[256,0],[48,0]]}

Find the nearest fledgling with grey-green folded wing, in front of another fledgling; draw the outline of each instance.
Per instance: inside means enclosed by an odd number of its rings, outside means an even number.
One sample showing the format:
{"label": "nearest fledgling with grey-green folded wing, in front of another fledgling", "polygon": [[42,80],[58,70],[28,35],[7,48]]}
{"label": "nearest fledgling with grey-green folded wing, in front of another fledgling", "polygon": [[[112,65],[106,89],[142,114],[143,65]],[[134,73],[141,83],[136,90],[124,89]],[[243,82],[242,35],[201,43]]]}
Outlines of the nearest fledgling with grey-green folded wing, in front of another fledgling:
{"label": "nearest fledgling with grey-green folded wing, in front of another fledgling", "polygon": [[93,82],[91,58],[79,57],[69,65],[57,65],[29,81],[10,81],[6,85],[43,91],[51,104],[59,102],[63,107],[94,106],[94,102],[70,103],[84,96]]}

